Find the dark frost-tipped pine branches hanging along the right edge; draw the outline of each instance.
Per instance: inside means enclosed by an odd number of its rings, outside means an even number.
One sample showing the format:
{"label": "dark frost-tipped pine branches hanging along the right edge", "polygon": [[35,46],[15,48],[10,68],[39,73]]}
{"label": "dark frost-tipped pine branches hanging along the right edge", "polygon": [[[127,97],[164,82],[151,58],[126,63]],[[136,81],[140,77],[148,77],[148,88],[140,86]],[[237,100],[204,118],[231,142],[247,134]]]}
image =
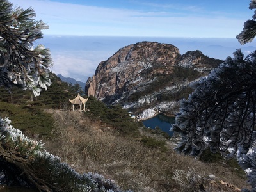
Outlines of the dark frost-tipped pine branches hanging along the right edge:
{"label": "dark frost-tipped pine branches hanging along the right edge", "polygon": [[[249,8],[256,8],[255,0]],[[243,45],[255,35],[256,13],[237,39]],[[236,157],[256,191],[256,51],[244,58],[238,49],[233,58],[229,56],[191,87],[194,92],[180,101],[172,126],[182,136],[177,151],[199,156],[209,148]]]}

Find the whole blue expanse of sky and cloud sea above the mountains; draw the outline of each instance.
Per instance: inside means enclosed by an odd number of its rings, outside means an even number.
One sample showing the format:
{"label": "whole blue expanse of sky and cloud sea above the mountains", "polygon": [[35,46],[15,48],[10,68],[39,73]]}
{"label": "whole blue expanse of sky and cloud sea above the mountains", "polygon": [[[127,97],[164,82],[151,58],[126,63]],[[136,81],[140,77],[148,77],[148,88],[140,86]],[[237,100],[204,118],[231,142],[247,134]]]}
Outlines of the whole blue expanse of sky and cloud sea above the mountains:
{"label": "whole blue expanse of sky and cloud sea above the mountains", "polygon": [[[181,54],[198,49],[225,59],[239,48],[236,35],[253,15],[250,0],[9,1],[23,9],[32,7],[36,20],[49,25],[36,43],[51,50],[52,72],[83,82],[93,76],[100,61],[143,40],[173,44]],[[243,49],[248,54],[255,41],[246,46],[252,46]]]}

